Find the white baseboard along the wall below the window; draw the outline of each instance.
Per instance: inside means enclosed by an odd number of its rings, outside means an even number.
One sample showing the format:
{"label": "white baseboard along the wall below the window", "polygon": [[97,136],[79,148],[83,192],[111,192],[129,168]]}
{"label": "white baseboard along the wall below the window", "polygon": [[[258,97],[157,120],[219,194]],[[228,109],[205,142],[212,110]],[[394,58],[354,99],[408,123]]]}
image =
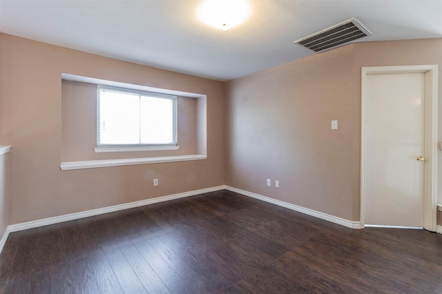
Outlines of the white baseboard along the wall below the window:
{"label": "white baseboard along the wall below the window", "polygon": [[139,206],[145,206],[150,204],[155,204],[159,202],[166,202],[173,199],[179,199],[184,197],[191,197],[194,195],[200,195],[203,193],[210,193],[214,191],[224,190],[224,186],[217,186],[212,188],[204,188],[200,190],[193,190],[190,192],[185,193],[178,193],[168,196],[162,196],[162,197],[156,197],[152,199],[144,199],[137,202],[130,202],[126,204],[119,204],[115,206],[108,206],[104,208],[97,208],[93,210],[86,210],[81,213],[70,213],[69,215],[60,215],[58,217],[48,217],[46,219],[39,219],[32,222],[23,222],[21,224],[12,224],[8,226],[7,231],[8,232],[17,232],[17,231],[23,231],[28,230],[30,228],[38,228],[40,226],[48,226],[50,224],[59,224],[61,222],[69,222],[71,220],[75,219],[82,219],[84,217],[93,217],[95,215],[103,215],[105,213],[113,213],[115,211],[129,209],[129,208],[135,208]]}

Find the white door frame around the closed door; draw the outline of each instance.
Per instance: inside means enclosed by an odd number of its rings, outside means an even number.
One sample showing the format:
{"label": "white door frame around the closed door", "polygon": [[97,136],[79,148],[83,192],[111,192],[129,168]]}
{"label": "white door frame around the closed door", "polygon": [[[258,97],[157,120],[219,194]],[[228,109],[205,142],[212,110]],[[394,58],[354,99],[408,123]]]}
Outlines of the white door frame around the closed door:
{"label": "white door frame around the closed door", "polygon": [[376,66],[362,68],[361,85],[361,228],[365,228],[365,101],[367,75],[387,73],[425,73],[425,139],[423,228],[436,232],[437,213],[437,65]]}

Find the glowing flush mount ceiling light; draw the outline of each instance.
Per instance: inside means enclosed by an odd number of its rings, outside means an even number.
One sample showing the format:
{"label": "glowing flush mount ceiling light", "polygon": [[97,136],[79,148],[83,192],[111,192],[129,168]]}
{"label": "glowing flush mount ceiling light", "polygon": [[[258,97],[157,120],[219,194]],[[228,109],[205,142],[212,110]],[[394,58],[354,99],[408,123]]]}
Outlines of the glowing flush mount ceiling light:
{"label": "glowing flush mount ceiling light", "polygon": [[247,0],[206,0],[200,6],[198,16],[209,26],[229,30],[245,21],[250,12]]}

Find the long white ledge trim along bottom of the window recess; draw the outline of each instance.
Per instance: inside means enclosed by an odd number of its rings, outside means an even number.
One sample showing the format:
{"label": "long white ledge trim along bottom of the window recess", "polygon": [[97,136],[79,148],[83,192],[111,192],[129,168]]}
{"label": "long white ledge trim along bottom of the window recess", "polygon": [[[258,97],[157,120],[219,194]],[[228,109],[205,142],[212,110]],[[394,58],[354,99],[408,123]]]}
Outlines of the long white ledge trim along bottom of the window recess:
{"label": "long white ledge trim along bottom of the window recess", "polygon": [[160,164],[164,162],[191,161],[207,159],[206,155],[179,155],[166,157],[143,157],[124,159],[104,159],[61,162],[61,170],[79,170],[83,168],[105,168],[108,166],[132,166],[135,164]]}

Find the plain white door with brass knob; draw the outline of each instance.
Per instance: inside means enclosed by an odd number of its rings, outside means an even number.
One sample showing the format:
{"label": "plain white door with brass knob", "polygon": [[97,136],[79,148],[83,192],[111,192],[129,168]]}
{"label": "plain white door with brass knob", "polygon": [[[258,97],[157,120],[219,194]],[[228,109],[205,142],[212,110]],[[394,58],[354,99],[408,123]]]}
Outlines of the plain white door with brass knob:
{"label": "plain white door with brass knob", "polygon": [[365,225],[424,225],[425,73],[367,75]]}

